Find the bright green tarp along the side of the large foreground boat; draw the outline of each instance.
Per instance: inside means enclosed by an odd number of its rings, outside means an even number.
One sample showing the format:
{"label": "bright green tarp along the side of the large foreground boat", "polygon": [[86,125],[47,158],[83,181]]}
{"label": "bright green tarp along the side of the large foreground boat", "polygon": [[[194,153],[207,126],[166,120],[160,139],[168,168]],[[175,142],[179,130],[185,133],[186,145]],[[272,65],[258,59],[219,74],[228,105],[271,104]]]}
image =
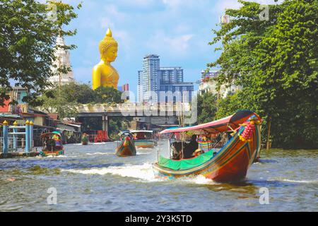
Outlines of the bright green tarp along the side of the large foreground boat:
{"label": "bright green tarp along the side of the large foreground boat", "polygon": [[185,160],[170,160],[160,155],[158,164],[161,167],[166,167],[169,169],[184,170],[184,169],[191,169],[193,167],[202,165],[205,162],[208,162],[208,160],[211,160],[212,157],[213,157],[213,150],[209,150],[208,152],[203,153],[202,155],[199,155],[198,157],[185,159]]}

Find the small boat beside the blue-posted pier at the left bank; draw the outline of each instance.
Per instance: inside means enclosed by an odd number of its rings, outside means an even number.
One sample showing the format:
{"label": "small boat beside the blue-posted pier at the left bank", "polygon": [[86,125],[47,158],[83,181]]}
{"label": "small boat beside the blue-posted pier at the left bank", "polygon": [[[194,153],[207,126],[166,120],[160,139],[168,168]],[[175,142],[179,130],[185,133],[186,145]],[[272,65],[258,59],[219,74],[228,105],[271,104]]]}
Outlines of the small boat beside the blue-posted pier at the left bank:
{"label": "small boat beside the blue-posted pier at the left bank", "polygon": [[40,155],[43,157],[64,155],[61,133],[58,131],[43,133],[40,137],[42,139],[42,150],[40,151]]}

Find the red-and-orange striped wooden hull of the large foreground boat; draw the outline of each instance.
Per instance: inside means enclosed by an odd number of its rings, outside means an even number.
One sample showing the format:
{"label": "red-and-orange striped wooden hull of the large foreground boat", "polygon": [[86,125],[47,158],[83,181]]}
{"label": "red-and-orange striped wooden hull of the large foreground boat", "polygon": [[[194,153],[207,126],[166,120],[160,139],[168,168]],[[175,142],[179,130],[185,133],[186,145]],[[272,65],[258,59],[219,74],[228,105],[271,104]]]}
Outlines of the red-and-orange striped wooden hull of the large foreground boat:
{"label": "red-and-orange striped wooden hull of the large foreground boat", "polygon": [[175,170],[153,164],[155,173],[167,178],[189,177],[203,175],[216,182],[235,182],[244,179],[247,169],[258,156],[261,148],[261,132],[259,125],[255,126],[251,141],[241,141],[240,133],[235,136],[211,160],[198,167],[185,170]]}

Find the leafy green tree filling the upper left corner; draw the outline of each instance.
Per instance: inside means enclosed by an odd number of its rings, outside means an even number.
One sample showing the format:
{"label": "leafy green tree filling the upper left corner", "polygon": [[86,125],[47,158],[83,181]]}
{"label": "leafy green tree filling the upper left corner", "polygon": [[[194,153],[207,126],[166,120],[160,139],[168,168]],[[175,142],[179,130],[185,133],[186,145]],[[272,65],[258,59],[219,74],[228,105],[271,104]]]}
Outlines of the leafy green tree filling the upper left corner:
{"label": "leafy green tree filling the upper left corner", "polygon": [[[0,11],[0,87],[11,90],[11,83],[15,83],[27,88],[30,93],[23,99],[30,102],[50,85],[56,39],[59,35],[76,34],[76,30],[62,28],[77,15],[73,6],[55,1],[42,4],[35,0],[1,0]],[[49,11],[52,16],[47,16]],[[66,73],[69,69],[63,67],[57,71]],[[8,99],[8,95],[1,90],[0,105],[4,98]]]}

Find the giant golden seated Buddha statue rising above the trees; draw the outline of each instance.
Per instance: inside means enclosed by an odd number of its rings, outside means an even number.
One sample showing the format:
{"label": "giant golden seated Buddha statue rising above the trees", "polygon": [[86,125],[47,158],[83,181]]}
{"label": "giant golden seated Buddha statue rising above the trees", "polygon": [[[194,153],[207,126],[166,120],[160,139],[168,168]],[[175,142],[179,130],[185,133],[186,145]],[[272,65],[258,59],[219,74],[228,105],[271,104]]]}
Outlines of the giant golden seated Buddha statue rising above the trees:
{"label": "giant golden seated Buddha statue rising above the trees", "polygon": [[100,41],[99,49],[100,63],[93,68],[93,90],[100,86],[112,86],[117,89],[119,75],[110,62],[117,57],[118,43],[112,37],[110,28],[108,28],[104,39]]}

